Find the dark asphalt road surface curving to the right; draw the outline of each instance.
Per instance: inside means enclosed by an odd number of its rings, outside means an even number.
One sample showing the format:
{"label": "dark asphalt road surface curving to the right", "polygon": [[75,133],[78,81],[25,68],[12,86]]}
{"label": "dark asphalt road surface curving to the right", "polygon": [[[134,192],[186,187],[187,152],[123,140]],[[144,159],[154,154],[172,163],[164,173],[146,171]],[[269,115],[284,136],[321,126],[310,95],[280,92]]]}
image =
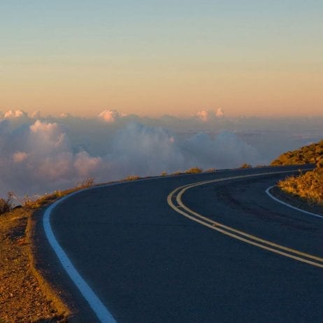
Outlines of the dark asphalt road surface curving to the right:
{"label": "dark asphalt road surface curving to the right", "polygon": [[[59,203],[50,225],[116,322],[323,322],[323,268],[315,266],[322,264],[323,219],[287,208],[265,193],[287,175],[278,171],[298,168],[218,171],[97,187]],[[252,176],[232,178],[245,175]],[[180,196],[184,208],[176,204],[178,187],[220,179],[190,187]],[[185,208],[265,243],[235,234],[247,241],[239,240],[217,231],[222,229],[218,225],[206,227],[178,213],[186,213]],[[75,322],[99,322],[40,224],[37,231],[48,277],[68,290],[78,308]]]}

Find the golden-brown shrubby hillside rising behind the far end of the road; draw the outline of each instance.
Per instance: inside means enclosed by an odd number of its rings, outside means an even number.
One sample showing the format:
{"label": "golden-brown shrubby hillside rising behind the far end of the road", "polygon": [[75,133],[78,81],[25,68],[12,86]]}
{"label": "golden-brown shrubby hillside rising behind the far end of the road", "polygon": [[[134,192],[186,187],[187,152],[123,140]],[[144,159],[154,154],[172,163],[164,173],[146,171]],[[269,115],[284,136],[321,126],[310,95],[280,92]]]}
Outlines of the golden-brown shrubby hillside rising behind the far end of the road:
{"label": "golden-brown shrubby hillside rising behind the far end of the road", "polygon": [[271,162],[271,166],[317,164],[323,166],[323,140],[319,143],[303,146],[297,150],[285,152]]}

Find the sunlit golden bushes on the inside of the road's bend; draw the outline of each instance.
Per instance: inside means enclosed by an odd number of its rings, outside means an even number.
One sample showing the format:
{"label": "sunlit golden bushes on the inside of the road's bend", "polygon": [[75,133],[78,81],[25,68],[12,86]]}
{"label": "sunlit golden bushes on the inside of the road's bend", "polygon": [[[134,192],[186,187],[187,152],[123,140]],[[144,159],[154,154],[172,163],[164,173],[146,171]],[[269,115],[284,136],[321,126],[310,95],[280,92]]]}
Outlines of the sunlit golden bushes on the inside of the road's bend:
{"label": "sunlit golden bushes on the inside of the road's bend", "polygon": [[323,204],[323,168],[318,167],[299,176],[289,176],[285,180],[280,180],[278,187],[310,203]]}

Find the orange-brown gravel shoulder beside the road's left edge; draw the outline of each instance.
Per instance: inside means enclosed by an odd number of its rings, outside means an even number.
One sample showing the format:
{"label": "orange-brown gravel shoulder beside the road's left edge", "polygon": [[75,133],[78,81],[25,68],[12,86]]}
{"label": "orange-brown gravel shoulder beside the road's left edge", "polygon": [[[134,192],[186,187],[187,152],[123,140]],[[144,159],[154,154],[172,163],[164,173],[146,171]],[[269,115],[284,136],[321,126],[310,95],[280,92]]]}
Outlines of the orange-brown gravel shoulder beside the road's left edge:
{"label": "orange-brown gravel shoulder beside the road's left edge", "polygon": [[0,215],[0,322],[67,322],[70,311],[34,266],[32,210]]}

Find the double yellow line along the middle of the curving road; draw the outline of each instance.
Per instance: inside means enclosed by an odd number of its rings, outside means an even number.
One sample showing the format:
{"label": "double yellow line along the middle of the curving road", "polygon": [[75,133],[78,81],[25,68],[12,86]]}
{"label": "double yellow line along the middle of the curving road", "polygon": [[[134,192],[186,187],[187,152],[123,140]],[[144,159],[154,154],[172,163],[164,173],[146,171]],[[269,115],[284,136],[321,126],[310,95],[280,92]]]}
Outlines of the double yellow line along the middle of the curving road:
{"label": "double yellow line along the middle of the curving road", "polygon": [[[228,227],[220,222],[215,222],[208,217],[204,217],[203,215],[196,213],[194,210],[187,208],[184,203],[182,203],[182,195],[193,187],[210,184],[213,182],[222,182],[224,180],[234,180],[238,178],[250,178],[255,176],[262,175],[273,175],[279,173],[292,173],[294,171],[279,171],[275,173],[260,173],[254,175],[240,175],[233,176],[229,178],[220,178],[217,180],[206,180],[203,182],[195,182],[194,184],[184,185],[181,187],[177,187],[171,192],[167,197],[168,205],[171,206],[176,212],[188,217],[190,220],[198,222],[210,229],[218,231],[222,234],[230,236],[231,238],[235,238],[237,240],[243,241],[245,243],[249,243],[250,245],[255,245],[265,250],[269,250],[271,252],[275,252],[276,254],[281,254],[282,256],[289,257],[295,259],[297,261],[305,262],[306,264],[310,264],[312,266],[323,268],[323,258],[313,256],[312,254],[307,254],[305,252],[301,252],[299,250],[294,250],[289,247],[284,247],[283,245],[278,245],[277,243],[273,243],[271,241],[267,241],[257,236],[252,236],[252,234],[247,234],[243,231],[234,229],[232,227]],[[175,203],[174,203],[175,202]]]}

